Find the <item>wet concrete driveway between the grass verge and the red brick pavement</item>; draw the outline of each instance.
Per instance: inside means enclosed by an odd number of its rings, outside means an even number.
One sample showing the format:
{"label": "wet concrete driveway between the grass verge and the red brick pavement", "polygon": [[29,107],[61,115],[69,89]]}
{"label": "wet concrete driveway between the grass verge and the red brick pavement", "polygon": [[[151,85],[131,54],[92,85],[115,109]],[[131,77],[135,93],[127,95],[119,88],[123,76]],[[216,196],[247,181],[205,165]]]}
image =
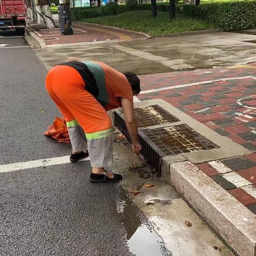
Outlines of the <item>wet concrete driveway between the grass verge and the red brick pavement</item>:
{"label": "wet concrete driveway between the grass verge and the red brick pavement", "polygon": [[69,57],[77,57],[103,61],[121,72],[129,70],[143,75],[252,62],[255,40],[255,35],[219,32],[35,51],[47,69]]}

